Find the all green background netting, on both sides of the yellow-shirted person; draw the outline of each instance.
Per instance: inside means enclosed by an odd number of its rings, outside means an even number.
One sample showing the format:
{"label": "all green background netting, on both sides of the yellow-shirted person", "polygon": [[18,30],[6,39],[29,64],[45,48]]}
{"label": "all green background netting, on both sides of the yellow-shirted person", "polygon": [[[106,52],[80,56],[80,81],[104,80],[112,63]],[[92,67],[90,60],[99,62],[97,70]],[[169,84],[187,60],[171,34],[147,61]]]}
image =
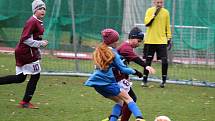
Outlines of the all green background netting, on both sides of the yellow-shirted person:
{"label": "all green background netting, on both sides of the yellow-shirted person", "polygon": [[[15,46],[24,22],[32,15],[31,2],[31,0],[0,1],[1,42]],[[68,0],[46,0],[46,4],[45,37],[49,40],[51,49],[61,49],[62,44],[70,43],[72,7],[78,36],[86,40],[98,40],[100,31],[106,27],[121,32],[124,0],[74,0],[73,4]],[[214,4],[214,0],[165,1],[165,7],[170,11],[171,17],[173,16],[171,23],[174,23],[175,50],[210,49],[215,53]],[[147,9],[146,7],[148,6],[143,6],[143,9]]]}

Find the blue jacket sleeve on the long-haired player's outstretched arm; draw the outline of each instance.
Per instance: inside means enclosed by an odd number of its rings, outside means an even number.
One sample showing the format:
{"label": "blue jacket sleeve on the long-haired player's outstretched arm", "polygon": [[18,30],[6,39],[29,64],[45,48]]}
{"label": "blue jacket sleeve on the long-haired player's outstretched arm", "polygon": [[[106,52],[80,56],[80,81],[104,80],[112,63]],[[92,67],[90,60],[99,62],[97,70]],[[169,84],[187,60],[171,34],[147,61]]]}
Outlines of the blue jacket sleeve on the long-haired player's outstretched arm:
{"label": "blue jacket sleeve on the long-haired player's outstretched arm", "polygon": [[124,74],[134,74],[135,70],[132,68],[127,67],[123,61],[120,59],[120,55],[116,52],[114,52],[115,58],[113,60],[113,65],[116,67],[118,70],[120,70]]}

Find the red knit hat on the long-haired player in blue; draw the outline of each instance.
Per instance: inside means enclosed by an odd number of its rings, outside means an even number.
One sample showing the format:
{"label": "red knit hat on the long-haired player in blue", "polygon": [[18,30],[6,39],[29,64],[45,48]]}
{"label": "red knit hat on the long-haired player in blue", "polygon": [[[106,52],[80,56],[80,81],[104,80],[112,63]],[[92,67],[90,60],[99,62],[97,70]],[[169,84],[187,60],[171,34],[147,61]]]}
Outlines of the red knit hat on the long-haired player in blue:
{"label": "red knit hat on the long-haired player in blue", "polygon": [[104,29],[102,32],[102,41],[109,45],[119,40],[119,33],[114,29]]}

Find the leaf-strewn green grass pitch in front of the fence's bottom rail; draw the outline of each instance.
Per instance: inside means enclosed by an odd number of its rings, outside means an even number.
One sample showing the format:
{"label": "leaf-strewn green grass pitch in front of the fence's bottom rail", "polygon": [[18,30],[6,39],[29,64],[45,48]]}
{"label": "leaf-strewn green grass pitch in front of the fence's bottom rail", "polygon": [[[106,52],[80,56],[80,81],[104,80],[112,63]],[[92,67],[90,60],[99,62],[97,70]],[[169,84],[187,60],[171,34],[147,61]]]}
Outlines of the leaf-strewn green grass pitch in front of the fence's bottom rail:
{"label": "leaf-strewn green grass pitch in front of the fence's bottom rail", "polygon": [[[0,54],[0,76],[15,73],[14,56]],[[0,85],[0,121],[100,121],[108,116],[113,102],[92,88],[83,86],[84,77],[41,76],[32,102],[38,110],[16,108],[26,83]],[[161,89],[133,89],[147,121],[167,115],[172,121],[214,121],[215,89],[169,84]],[[131,121],[134,121],[132,117]]]}

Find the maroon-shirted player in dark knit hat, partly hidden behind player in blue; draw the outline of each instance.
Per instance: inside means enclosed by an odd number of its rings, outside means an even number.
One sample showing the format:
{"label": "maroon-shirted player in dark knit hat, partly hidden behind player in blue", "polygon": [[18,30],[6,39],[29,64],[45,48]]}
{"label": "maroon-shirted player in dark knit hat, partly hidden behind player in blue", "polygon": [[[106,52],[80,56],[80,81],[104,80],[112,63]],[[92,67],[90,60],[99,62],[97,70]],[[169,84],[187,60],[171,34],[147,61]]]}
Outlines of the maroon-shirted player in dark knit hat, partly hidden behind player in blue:
{"label": "maroon-shirted player in dark knit hat, partly hidden behind player in blue", "polygon": [[[118,53],[122,56],[124,63],[129,64],[129,62],[135,62],[136,64],[144,67],[149,73],[155,73],[154,68],[151,66],[146,66],[145,62],[137,55],[134,51],[134,48],[138,47],[139,44],[143,41],[144,34],[138,28],[134,27],[130,33],[127,41],[124,41],[118,48]],[[119,70],[113,70],[116,80],[120,85],[121,89],[124,89],[128,92],[131,98],[136,102],[137,97],[134,91],[131,88],[131,82],[129,81],[129,76],[126,74],[121,73]],[[121,120],[120,121],[128,121],[131,116],[131,111],[129,110],[126,103],[123,104],[122,113],[121,113]],[[102,121],[107,121],[104,119]]]}

